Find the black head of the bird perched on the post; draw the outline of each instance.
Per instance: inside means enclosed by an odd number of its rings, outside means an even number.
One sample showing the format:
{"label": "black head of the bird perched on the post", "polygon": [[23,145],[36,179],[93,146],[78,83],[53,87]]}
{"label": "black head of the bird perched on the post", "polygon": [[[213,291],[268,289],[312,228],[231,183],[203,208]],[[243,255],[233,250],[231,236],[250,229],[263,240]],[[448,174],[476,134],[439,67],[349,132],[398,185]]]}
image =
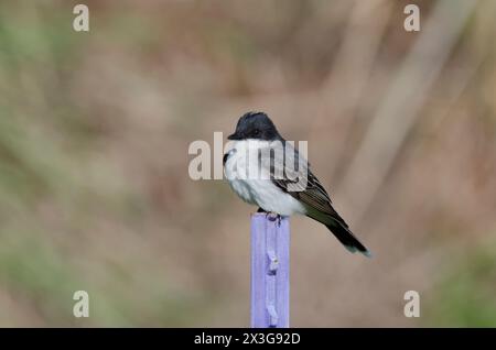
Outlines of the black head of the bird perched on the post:
{"label": "black head of the bird perched on the post", "polygon": [[282,140],[273,122],[263,112],[248,112],[238,120],[234,134],[227,136],[229,140]]}

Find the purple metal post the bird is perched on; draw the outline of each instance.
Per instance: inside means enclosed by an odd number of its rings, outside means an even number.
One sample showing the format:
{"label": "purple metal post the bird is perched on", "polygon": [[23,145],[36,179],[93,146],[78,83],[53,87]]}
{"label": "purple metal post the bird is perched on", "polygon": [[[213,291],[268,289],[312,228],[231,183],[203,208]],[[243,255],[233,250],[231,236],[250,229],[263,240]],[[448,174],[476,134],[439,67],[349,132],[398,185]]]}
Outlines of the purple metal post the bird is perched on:
{"label": "purple metal post the bird is perched on", "polygon": [[251,327],[289,327],[289,218],[251,216]]}

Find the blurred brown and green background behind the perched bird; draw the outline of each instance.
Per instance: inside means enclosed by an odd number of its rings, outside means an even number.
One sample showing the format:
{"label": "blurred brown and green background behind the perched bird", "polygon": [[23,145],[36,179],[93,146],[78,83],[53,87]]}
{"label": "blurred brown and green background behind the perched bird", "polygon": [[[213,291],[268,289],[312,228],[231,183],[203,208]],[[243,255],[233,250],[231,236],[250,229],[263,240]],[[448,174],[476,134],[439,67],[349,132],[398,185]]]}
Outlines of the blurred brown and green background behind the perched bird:
{"label": "blurred brown and green background behind the perched bird", "polygon": [[496,1],[0,3],[0,326],[249,326],[256,208],[187,150],[250,110],[374,253],[293,218],[293,327],[496,326]]}

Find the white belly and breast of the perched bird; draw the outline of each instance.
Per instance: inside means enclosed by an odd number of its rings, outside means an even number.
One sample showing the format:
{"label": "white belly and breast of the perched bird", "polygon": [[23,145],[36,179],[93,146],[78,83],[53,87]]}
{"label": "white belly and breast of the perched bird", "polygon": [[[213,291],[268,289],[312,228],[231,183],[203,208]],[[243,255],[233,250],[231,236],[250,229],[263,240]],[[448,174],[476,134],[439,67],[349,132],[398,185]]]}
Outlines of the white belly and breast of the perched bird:
{"label": "white belly and breast of the perched bird", "polygon": [[225,164],[226,177],[233,190],[246,203],[257,205],[266,211],[282,216],[305,214],[305,208],[299,200],[277,187],[270,179],[240,176],[239,173],[245,173],[247,160],[241,142],[236,143],[236,151],[231,152]]}

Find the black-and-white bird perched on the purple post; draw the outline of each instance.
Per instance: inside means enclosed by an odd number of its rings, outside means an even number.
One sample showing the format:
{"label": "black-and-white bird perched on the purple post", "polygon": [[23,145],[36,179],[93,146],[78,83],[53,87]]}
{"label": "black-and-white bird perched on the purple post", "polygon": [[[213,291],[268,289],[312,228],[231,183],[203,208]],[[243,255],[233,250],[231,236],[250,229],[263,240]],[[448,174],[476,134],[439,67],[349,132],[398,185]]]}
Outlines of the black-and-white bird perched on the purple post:
{"label": "black-and-white bird perched on the purple post", "polygon": [[[333,207],[330,195],[310,164],[291,142],[284,140],[265,112],[242,114],[228,140],[231,147],[224,154],[224,173],[231,189],[246,203],[258,206],[257,212],[281,217],[303,215],[323,223],[352,253],[370,258],[370,251],[355,237]],[[274,144],[277,146],[274,146]],[[283,156],[274,156],[282,150]],[[269,176],[247,176],[254,164],[247,154],[254,152],[256,165]],[[293,161],[288,155],[293,153]],[[296,168],[296,163],[299,165]],[[255,174],[255,173],[254,173]],[[276,176],[279,175],[279,176]]]}

